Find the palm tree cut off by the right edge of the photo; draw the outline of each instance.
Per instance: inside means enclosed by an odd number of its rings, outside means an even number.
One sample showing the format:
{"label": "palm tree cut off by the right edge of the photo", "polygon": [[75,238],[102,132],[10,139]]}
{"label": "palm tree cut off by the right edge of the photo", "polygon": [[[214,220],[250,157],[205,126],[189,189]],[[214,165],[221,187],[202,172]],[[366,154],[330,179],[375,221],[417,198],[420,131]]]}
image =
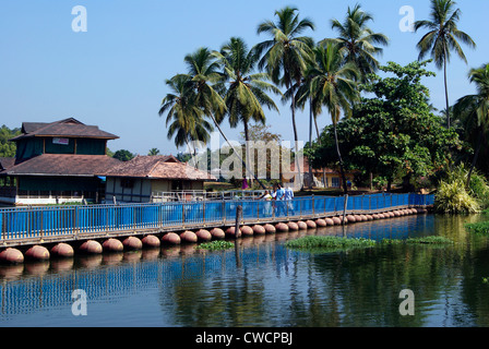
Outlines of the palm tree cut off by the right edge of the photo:
{"label": "palm tree cut off by the right edge of the photo", "polygon": [[[460,98],[453,107],[457,116],[465,115],[465,124],[472,123],[477,132],[476,152],[467,176],[467,186],[470,183],[470,176],[479,156],[482,141],[487,137],[489,130],[489,63],[479,69],[470,69],[468,79],[476,84],[477,94],[467,95]],[[469,129],[466,129],[469,132]]]}

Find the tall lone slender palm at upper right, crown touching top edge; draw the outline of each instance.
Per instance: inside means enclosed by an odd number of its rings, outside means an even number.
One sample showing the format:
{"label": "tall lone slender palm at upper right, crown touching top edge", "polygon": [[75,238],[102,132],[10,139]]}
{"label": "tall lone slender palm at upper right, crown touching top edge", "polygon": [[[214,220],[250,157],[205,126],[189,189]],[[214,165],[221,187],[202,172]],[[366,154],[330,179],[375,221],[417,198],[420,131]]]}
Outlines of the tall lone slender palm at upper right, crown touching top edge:
{"label": "tall lone slender palm at upper right, crown touching top edge", "polygon": [[451,51],[467,62],[464,51],[458,41],[475,48],[476,44],[466,33],[458,31],[457,22],[461,16],[461,10],[455,10],[455,1],[452,0],[431,0],[430,20],[416,21],[414,23],[415,32],[420,28],[427,28],[429,32],[417,44],[419,50],[419,60],[430,53],[438,69],[443,68],[446,103],[446,125],[450,129],[450,104],[449,87],[446,83],[446,63],[450,62]]}

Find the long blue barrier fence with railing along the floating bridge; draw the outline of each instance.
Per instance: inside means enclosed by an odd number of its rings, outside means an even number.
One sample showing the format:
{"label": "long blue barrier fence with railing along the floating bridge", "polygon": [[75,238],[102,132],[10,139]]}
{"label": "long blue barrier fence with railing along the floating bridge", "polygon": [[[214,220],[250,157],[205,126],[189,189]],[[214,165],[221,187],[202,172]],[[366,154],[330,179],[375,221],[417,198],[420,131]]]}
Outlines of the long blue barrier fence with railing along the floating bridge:
{"label": "long blue barrier fence with railing along the floating bridge", "polygon": [[[370,194],[349,196],[347,213],[374,213],[432,205],[434,195]],[[43,206],[0,209],[0,241],[76,233],[226,225],[242,206],[242,221],[300,219],[342,214],[344,196],[307,196],[291,201],[199,201],[157,204]]]}

